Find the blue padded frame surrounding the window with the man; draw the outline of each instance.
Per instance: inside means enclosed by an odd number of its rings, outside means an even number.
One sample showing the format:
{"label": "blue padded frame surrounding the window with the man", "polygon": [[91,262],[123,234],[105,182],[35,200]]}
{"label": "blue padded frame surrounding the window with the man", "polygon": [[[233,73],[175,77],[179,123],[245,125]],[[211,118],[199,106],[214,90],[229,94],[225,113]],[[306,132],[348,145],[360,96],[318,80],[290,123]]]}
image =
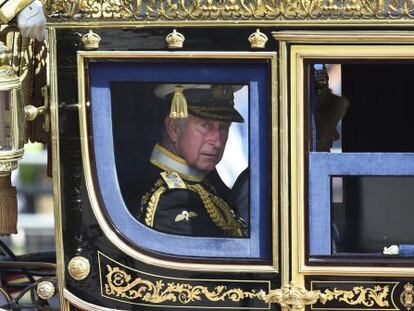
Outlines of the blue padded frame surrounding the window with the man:
{"label": "blue padded frame surrounding the window with the man", "polygon": [[[137,247],[182,256],[269,259],[271,256],[270,184],[268,167],[269,65],[265,61],[111,62],[89,64],[91,134],[101,209],[124,239]],[[115,164],[111,117],[111,83],[137,81],[159,83],[248,84],[250,103],[250,237],[198,238],[154,231],[137,221],[124,203]],[[137,101],[137,104],[139,102]]]}

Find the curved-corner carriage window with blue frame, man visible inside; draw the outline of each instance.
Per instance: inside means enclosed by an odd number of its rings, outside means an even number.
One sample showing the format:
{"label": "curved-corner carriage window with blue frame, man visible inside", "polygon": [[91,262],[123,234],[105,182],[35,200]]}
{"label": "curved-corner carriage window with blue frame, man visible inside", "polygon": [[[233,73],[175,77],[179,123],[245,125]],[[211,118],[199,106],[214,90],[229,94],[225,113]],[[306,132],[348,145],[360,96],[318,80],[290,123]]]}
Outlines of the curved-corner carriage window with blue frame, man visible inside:
{"label": "curved-corner carriage window with blue frame, man visible inside", "polygon": [[96,57],[82,122],[92,137],[88,182],[100,195],[93,208],[119,233],[114,241],[163,256],[273,262],[274,54]]}

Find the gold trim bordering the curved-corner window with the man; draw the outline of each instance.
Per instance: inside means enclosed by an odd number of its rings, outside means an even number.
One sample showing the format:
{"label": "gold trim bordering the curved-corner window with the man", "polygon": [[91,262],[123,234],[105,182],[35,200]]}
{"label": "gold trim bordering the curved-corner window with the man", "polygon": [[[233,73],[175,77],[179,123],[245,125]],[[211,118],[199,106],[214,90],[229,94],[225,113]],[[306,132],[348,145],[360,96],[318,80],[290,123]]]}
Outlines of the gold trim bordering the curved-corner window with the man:
{"label": "gold trim bordering the curved-corner window with the man", "polygon": [[[276,256],[272,259],[271,265],[246,265],[246,264],[204,264],[204,263],[185,263],[185,262],[171,262],[168,260],[163,260],[155,258],[140,251],[137,251],[135,248],[131,247],[125,243],[111,228],[111,225],[105,219],[103,212],[100,210],[96,192],[92,182],[92,170],[89,163],[89,146],[88,146],[88,127],[86,122],[86,98],[85,98],[85,62],[90,58],[118,58],[118,59],[129,59],[129,58],[147,58],[147,59],[156,59],[156,58],[165,58],[165,59],[197,59],[197,58],[208,58],[208,59],[268,59],[274,64],[276,62],[276,53],[273,52],[134,52],[134,51],[79,51],[78,52],[78,90],[79,90],[79,118],[80,118],[80,133],[81,133],[81,147],[82,147],[82,160],[83,160],[83,169],[86,179],[86,186],[88,191],[88,196],[91,201],[92,209],[95,214],[95,217],[103,230],[107,238],[116,245],[121,251],[127,255],[142,261],[146,264],[165,267],[170,269],[177,270],[190,270],[190,271],[214,271],[214,272],[248,272],[248,273],[264,273],[264,272],[278,272],[278,258]],[[276,94],[274,89],[274,77],[272,73],[272,99],[276,100]],[[274,134],[274,133],[273,133]],[[275,141],[273,140],[273,144]],[[276,146],[272,146],[273,150],[276,149]],[[274,155],[277,157],[277,155]],[[272,157],[273,158],[273,157]],[[277,170],[277,166],[273,166],[273,170]],[[272,176],[274,176],[272,174]],[[274,182],[274,181],[272,181]],[[276,200],[276,196],[273,198]],[[273,206],[274,208],[274,206]],[[273,214],[276,214],[277,210],[273,210]],[[273,235],[274,231],[277,230],[276,227],[272,228]],[[275,252],[278,251],[278,243],[276,240]]]}

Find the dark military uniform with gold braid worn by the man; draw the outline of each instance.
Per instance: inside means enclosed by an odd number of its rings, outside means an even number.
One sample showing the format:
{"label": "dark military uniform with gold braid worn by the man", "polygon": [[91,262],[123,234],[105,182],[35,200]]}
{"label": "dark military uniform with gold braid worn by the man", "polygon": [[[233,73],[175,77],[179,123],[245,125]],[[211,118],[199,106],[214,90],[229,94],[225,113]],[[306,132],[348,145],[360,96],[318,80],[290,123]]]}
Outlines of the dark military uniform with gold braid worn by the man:
{"label": "dark military uniform with gold braid worn by the man", "polygon": [[140,220],[157,231],[200,237],[243,237],[246,226],[218,195],[206,173],[160,145],[145,172]]}

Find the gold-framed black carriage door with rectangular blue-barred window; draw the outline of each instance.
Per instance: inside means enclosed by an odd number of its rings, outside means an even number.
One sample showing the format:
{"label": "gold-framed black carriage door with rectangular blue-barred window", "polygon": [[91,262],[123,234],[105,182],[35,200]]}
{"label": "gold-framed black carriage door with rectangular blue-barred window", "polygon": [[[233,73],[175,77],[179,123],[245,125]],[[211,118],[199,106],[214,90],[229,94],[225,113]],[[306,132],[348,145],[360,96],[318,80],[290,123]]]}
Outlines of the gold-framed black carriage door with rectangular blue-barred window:
{"label": "gold-framed black carriage door with rectangular blue-barred window", "polygon": [[291,279],[319,291],[310,310],[410,310],[413,37],[274,38],[281,128],[289,133],[281,167],[290,176]]}

